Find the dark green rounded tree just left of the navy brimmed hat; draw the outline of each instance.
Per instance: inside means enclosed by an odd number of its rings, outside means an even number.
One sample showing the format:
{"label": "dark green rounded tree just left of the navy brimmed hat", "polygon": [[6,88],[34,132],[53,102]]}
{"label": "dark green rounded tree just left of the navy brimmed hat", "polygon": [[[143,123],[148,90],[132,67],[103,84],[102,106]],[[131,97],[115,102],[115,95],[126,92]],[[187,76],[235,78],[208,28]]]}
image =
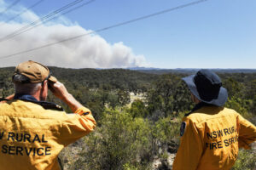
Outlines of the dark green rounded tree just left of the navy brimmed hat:
{"label": "dark green rounded tree just left of the navy brimmed hat", "polygon": [[192,107],[189,89],[176,75],[163,75],[148,92],[148,111],[151,115],[177,116]]}

